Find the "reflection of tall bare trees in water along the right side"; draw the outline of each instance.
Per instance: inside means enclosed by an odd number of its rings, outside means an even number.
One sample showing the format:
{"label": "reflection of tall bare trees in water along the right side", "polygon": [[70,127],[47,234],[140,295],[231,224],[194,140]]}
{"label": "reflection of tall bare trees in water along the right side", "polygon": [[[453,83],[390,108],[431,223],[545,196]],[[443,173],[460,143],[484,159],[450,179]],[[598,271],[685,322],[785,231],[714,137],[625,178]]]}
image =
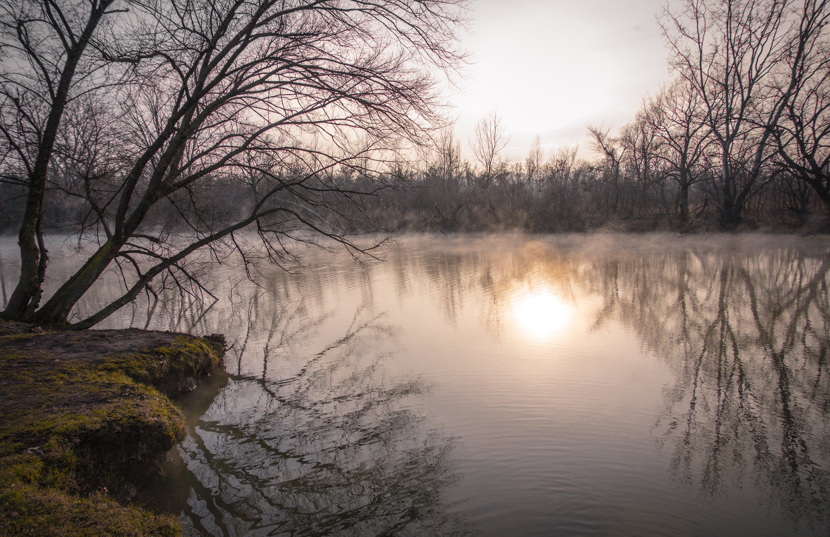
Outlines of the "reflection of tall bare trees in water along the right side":
{"label": "reflection of tall bare trees in water along the right side", "polygon": [[588,278],[598,322],[626,322],[676,373],[655,427],[673,475],[712,498],[751,485],[815,528],[830,525],[828,269],[826,249],[676,249]]}

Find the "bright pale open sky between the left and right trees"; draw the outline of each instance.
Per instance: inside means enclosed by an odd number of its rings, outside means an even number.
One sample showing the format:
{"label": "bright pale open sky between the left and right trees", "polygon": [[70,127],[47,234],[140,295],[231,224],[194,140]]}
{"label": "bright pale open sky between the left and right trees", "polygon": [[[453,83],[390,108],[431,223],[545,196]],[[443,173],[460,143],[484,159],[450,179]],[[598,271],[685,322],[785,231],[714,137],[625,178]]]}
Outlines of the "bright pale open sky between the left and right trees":
{"label": "bright pale open sky between the left and right trees", "polygon": [[580,145],[586,125],[616,132],[671,75],[657,14],[663,0],[472,0],[461,46],[470,65],[450,90],[465,157],[476,123],[496,110],[524,161],[538,134],[547,153]]}

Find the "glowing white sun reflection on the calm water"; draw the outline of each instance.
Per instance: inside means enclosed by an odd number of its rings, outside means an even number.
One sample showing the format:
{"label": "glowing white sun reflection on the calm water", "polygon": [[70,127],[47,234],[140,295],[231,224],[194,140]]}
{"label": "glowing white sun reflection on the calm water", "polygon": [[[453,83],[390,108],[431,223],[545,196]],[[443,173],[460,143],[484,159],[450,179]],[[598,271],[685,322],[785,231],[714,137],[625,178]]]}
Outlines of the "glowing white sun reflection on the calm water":
{"label": "glowing white sun reflection on the calm water", "polygon": [[549,289],[522,293],[513,299],[512,318],[525,336],[549,341],[563,332],[574,318],[574,306]]}

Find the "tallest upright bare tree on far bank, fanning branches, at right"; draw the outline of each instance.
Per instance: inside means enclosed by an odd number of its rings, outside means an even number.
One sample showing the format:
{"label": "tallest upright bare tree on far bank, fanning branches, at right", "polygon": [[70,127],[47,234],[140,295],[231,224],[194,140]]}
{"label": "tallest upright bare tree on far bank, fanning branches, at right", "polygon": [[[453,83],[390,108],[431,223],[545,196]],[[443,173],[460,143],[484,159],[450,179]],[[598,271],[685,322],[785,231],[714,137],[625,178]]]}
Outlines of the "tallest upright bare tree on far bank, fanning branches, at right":
{"label": "tallest upright bare tree on far bank, fanning branches, at right", "polygon": [[[720,149],[720,223],[740,223],[771,156],[771,131],[795,80],[781,73],[789,53],[789,0],[686,0],[663,12],[671,64],[700,95],[706,122]],[[771,77],[783,75],[784,91]]]}

